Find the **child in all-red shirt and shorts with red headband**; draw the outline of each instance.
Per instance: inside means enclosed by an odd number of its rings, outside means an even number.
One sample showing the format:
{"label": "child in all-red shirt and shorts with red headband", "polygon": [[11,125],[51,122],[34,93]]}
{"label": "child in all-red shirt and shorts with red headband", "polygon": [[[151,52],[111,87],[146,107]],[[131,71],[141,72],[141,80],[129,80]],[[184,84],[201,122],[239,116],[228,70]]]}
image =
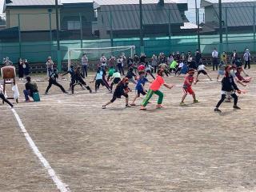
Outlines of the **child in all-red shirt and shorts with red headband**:
{"label": "child in all-red shirt and shorts with red headband", "polygon": [[[194,99],[194,102],[193,103],[197,103],[198,100],[195,98],[195,94],[194,94],[194,90],[192,90],[192,83],[194,82],[194,69],[190,69],[186,75],[186,78],[185,78],[185,82],[183,84],[183,91],[184,91],[184,94],[182,96],[182,102],[180,102],[180,105],[181,106],[184,106],[186,105],[186,103],[184,102],[185,98],[186,98],[186,95],[187,93],[191,94],[193,99]],[[196,84],[196,82],[194,82],[194,84]]]}

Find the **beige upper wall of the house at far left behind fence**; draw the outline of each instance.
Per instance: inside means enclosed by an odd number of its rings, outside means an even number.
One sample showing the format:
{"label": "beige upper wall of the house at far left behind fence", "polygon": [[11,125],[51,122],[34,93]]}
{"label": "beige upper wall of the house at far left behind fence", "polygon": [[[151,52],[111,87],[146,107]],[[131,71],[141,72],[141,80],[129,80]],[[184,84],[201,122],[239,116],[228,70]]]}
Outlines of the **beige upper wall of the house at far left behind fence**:
{"label": "beige upper wall of the house at far left behind fence", "polygon": [[[6,11],[7,28],[18,26],[18,14],[20,15],[21,31],[50,30],[49,8],[11,9]],[[51,27],[56,30],[56,14],[51,13]]]}

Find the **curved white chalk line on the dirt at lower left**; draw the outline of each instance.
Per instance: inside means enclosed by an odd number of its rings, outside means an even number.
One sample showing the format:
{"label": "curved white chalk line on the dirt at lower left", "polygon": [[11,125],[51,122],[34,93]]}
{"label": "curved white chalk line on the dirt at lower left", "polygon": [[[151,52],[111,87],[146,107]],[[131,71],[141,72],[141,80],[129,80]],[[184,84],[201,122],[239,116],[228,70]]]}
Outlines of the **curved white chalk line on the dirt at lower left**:
{"label": "curved white chalk line on the dirt at lower left", "polygon": [[32,138],[30,138],[30,134],[26,131],[26,128],[23,125],[21,118],[19,118],[16,110],[11,110],[14,113],[14,116],[18,122],[18,126],[22,130],[22,133],[24,134],[26,141],[29,142],[30,147],[33,150],[34,154],[39,158],[42,165],[46,168],[48,174],[50,174],[50,178],[54,181],[55,185],[58,187],[58,190],[60,190],[60,192],[70,192],[71,190],[69,189],[69,187],[58,178],[58,176],[55,174],[55,171],[51,168],[49,162],[47,162],[46,158],[42,156],[41,152],[38,150],[38,147],[35,145]]}

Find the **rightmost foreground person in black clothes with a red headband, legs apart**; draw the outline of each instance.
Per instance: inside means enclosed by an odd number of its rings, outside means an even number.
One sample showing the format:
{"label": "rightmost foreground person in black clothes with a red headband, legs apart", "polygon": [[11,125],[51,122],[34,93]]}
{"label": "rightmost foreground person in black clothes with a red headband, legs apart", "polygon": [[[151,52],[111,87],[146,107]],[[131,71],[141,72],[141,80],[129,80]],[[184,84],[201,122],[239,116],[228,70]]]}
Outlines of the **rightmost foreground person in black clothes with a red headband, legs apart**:
{"label": "rightmost foreground person in black clothes with a red headband, legs apart", "polygon": [[238,89],[238,86],[234,82],[234,78],[230,73],[231,66],[225,67],[225,76],[222,78],[222,98],[219,100],[217,106],[214,109],[214,112],[222,113],[221,110],[218,109],[221,106],[222,102],[224,102],[226,95],[230,94],[232,98],[234,98],[234,109],[240,110],[241,108],[237,105],[238,104],[238,96],[235,94],[235,91],[238,94],[241,94],[241,90]]}

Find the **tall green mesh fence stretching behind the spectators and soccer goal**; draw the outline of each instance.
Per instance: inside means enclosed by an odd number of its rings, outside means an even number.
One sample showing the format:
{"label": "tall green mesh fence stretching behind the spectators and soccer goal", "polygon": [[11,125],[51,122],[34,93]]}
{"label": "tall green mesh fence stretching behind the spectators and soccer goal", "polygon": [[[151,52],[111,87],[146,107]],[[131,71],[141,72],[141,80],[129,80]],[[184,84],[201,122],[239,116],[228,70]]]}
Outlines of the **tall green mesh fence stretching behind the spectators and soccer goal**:
{"label": "tall green mesh fence stretching behind the spectators and soccer goal", "polygon": [[[136,46],[146,55],[174,51],[210,54],[220,47],[218,8],[189,9],[186,6],[138,6],[129,8],[76,11],[60,10],[60,46],[62,61],[69,48]],[[244,10],[244,11],[243,11]],[[254,6],[222,7],[222,50],[239,53],[255,51]],[[3,18],[3,17],[1,17]],[[27,58],[45,62],[57,59],[56,14],[53,10],[36,13],[6,13],[6,29],[0,31],[0,58],[13,61]],[[1,21],[1,20],[0,20]],[[140,25],[142,21],[142,25]],[[1,25],[0,25],[1,26]],[[141,28],[142,26],[142,28]],[[142,32],[142,33],[141,33]],[[143,39],[140,41],[140,38]],[[141,50],[143,48],[143,50]]]}

